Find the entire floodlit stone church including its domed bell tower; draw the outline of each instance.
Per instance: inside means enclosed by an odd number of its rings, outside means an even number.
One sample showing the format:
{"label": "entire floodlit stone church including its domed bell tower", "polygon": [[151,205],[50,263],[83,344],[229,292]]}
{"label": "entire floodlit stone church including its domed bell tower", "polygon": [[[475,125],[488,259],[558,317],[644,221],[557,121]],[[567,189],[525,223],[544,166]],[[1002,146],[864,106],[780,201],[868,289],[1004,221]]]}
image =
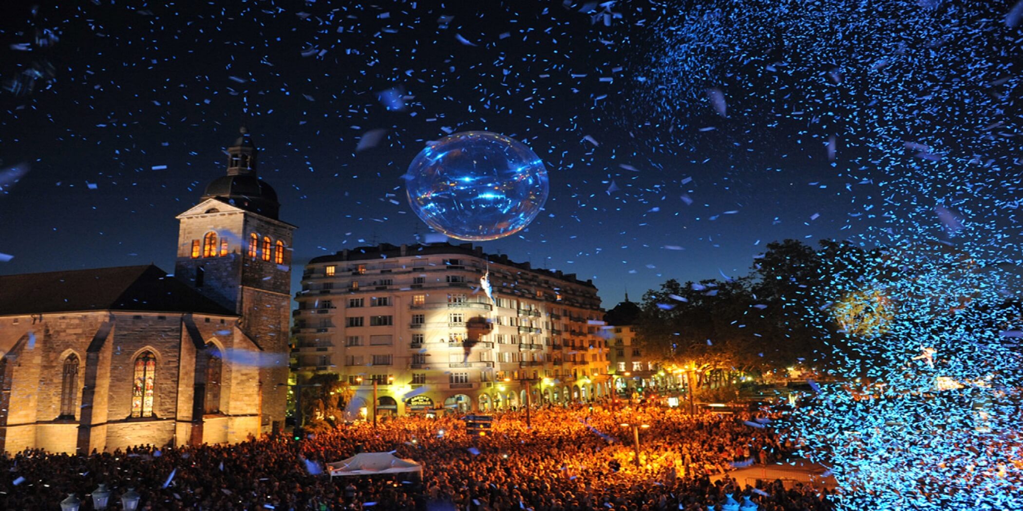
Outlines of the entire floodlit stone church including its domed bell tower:
{"label": "entire floodlit stone church including its domed bell tower", "polygon": [[154,266],[0,276],[0,451],[234,443],[283,425],[292,233],[249,133]]}

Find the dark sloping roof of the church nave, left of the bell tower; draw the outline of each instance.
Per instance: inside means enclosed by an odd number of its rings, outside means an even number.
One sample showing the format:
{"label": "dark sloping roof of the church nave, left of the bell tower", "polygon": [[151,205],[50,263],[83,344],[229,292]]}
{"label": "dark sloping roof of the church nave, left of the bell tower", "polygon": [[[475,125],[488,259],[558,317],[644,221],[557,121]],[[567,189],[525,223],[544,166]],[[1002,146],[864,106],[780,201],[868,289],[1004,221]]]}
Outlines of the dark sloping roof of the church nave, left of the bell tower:
{"label": "dark sloping roof of the church nave, left of the bell tower", "polygon": [[0,316],[79,311],[236,316],[153,265],[0,275]]}

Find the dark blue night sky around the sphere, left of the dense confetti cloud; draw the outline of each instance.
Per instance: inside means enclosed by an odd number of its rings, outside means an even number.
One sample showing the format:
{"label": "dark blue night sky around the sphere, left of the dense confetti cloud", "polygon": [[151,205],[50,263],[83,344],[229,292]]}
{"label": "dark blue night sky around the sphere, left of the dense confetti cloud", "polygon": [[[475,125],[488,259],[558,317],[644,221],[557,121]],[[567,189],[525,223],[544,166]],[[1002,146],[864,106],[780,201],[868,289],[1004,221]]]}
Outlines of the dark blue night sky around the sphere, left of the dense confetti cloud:
{"label": "dark blue night sky around the sphere, left of the dense confetti cloud", "polygon": [[[402,175],[466,130],[527,143],[550,176],[526,231],[480,244],[592,278],[608,308],[668,278],[745,274],[772,240],[880,224],[852,130],[804,114],[773,73],[785,42],[746,60],[758,79],[657,83],[664,31],[692,4],[6,3],[0,274],[171,271],[174,217],[223,175],[241,125],[299,226],[297,266],[430,232]],[[357,150],[367,132],[384,136]]]}

